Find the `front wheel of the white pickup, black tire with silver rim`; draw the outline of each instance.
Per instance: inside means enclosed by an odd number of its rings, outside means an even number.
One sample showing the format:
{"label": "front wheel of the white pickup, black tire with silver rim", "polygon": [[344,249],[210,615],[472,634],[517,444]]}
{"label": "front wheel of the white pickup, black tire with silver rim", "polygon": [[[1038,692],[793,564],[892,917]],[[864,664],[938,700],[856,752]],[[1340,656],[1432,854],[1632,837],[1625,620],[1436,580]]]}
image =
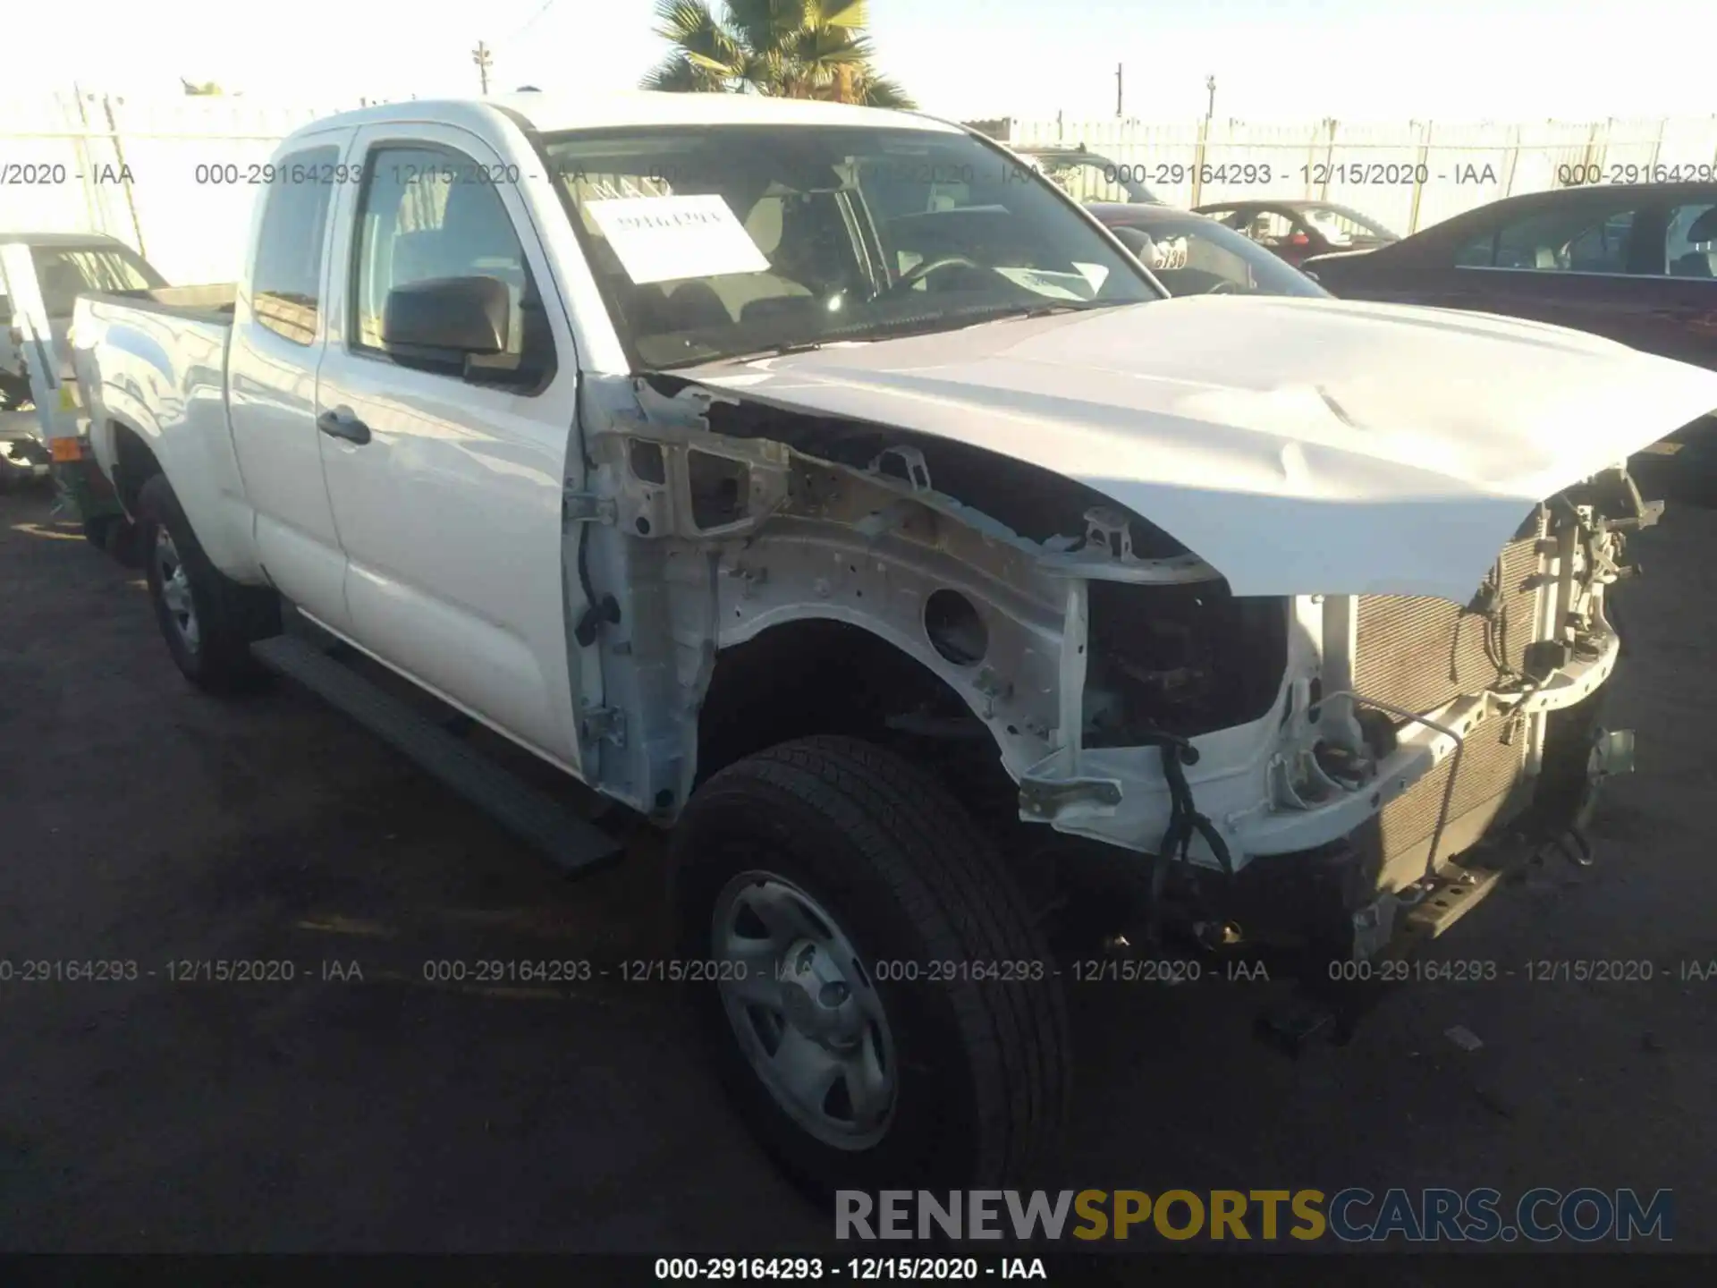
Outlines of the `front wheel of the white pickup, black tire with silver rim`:
{"label": "front wheel of the white pickup, black tire with silver rim", "polygon": [[853,738],[788,742],[702,787],[673,859],[718,1072],[805,1188],[1001,1187],[1053,1147],[1054,963],[939,783]]}

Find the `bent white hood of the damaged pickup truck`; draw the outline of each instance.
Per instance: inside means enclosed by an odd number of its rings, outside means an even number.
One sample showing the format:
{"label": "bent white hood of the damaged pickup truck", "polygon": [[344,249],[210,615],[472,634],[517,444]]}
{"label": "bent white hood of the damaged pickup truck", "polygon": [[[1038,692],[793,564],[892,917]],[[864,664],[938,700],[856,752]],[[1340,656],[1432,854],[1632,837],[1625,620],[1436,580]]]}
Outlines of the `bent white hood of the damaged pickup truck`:
{"label": "bent white hood of the damaged pickup truck", "polygon": [[1078,479],[1235,594],[1461,603],[1537,501],[1717,410],[1717,373],[1583,331],[1286,297],[1159,301],[676,374]]}

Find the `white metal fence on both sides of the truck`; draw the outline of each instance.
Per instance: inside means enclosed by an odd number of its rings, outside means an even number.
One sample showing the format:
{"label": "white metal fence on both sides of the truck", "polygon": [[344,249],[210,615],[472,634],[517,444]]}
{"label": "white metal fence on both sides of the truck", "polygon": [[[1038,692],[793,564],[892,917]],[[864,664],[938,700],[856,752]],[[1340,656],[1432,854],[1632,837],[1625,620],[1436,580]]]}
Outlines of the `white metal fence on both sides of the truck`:
{"label": "white metal fence on both sides of the truck", "polygon": [[[0,228],[106,232],[168,282],[237,276],[275,144],[343,101],[0,100]],[[1607,122],[1262,124],[999,120],[1011,144],[1083,144],[1162,199],[1324,197],[1415,232],[1513,192],[1569,182],[1717,177],[1717,117]],[[1095,185],[1092,185],[1095,180]],[[1087,172],[1082,197],[1118,196]],[[1107,189],[1107,191],[1106,191]]]}

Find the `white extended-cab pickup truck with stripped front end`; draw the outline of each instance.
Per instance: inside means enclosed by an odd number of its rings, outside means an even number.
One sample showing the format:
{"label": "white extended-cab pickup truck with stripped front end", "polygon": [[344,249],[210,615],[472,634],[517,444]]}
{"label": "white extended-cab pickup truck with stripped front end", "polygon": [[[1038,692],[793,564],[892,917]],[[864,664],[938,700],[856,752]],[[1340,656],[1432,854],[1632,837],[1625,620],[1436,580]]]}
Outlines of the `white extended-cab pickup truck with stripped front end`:
{"label": "white extended-cab pickup truck with stripped front end", "polygon": [[920,115],[414,101],[270,177],[235,289],[76,318],[173,661],[306,680],[575,867],[611,843],[335,656],[671,826],[676,977],[817,1187],[1020,1176],[1113,953],[1341,975],[1624,768],[1619,462],[1717,374],[1168,299]]}

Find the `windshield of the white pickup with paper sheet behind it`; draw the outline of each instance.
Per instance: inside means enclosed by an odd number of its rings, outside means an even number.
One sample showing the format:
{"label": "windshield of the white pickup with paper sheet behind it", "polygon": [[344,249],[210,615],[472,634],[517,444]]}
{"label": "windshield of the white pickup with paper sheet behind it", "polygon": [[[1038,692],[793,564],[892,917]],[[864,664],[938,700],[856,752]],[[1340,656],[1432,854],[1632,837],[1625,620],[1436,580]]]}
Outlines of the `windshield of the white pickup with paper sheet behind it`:
{"label": "windshield of the white pickup with paper sheet behind it", "polygon": [[1159,299],[1035,173],[965,134],[601,131],[544,155],[646,369]]}

